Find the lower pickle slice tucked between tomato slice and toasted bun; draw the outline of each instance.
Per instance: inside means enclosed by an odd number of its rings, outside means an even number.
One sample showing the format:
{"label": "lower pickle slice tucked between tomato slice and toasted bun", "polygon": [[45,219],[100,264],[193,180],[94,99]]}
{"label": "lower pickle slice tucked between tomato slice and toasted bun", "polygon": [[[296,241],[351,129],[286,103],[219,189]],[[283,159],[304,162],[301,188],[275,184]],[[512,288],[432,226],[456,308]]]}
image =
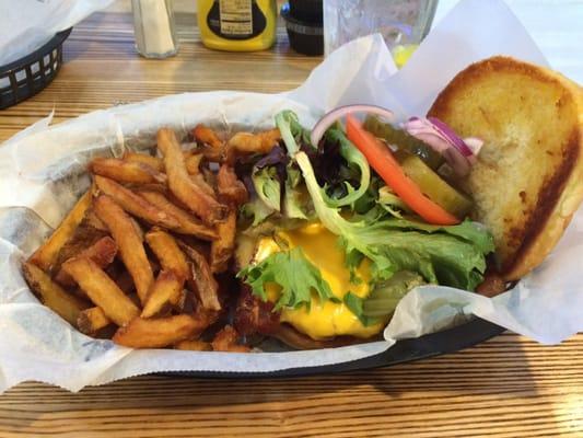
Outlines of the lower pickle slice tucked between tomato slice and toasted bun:
{"label": "lower pickle slice tucked between tomato slice and toasted bun", "polygon": [[423,195],[456,218],[463,219],[471,209],[471,200],[441,178],[423,160],[407,152],[397,151],[405,174],[409,176]]}

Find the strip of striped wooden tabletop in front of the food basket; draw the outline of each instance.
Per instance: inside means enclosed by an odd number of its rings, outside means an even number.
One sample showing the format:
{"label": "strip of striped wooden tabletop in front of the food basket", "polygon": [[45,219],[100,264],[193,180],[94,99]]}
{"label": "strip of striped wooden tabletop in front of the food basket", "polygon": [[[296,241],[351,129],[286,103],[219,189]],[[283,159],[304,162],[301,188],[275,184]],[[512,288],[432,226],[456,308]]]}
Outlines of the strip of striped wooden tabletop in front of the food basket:
{"label": "strip of striped wooden tabletop in front of the food basket", "polygon": [[583,336],[504,334],[386,369],[302,379],[140,377],[0,397],[0,436],[549,437],[583,434]]}

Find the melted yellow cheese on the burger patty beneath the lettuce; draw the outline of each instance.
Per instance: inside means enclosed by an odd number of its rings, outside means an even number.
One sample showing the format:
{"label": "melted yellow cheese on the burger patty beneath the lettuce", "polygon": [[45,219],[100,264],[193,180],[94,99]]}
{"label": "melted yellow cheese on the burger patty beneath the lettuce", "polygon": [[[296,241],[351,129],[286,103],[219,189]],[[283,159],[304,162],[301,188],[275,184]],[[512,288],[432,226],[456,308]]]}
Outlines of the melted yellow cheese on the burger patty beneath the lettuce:
{"label": "melted yellow cheese on the burger patty beneath the lettuce", "polygon": [[[318,267],[322,277],[328,281],[333,293],[340,300],[349,291],[362,298],[369,295],[369,263],[363,262],[357,269],[357,276],[361,281],[351,283],[350,273],[345,266],[345,254],[338,247],[338,238],[320,223],[313,223],[293,231],[280,231],[278,238],[283,239],[290,249],[300,246],[306,258]],[[281,249],[273,238],[260,239],[254,257],[255,263],[278,251]],[[278,285],[270,284],[266,285],[266,291],[269,300],[276,301],[280,288]],[[365,327],[343,302],[322,303],[314,293],[310,310],[305,306],[299,309],[283,309],[281,321],[293,325],[299,332],[314,339],[340,335],[371,337],[384,327],[384,323]]]}

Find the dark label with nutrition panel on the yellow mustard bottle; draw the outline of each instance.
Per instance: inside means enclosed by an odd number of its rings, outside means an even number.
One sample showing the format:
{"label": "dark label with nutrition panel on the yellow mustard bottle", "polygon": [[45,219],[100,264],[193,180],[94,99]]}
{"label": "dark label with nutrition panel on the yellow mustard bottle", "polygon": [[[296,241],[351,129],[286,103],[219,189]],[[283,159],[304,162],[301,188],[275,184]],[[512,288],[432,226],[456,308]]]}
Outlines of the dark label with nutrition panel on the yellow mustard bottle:
{"label": "dark label with nutrition panel on the yellow mustard bottle", "polygon": [[267,19],[256,0],[214,0],[207,24],[223,38],[248,39],[264,32]]}

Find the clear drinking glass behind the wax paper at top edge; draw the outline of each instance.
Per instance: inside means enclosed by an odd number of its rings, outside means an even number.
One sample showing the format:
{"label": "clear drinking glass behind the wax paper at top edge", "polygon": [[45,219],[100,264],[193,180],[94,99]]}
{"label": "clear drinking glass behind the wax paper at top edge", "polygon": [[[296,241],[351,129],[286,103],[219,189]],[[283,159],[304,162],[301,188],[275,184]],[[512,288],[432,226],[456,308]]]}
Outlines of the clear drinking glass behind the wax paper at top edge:
{"label": "clear drinking glass behind the wax paper at top edge", "polygon": [[378,32],[405,58],[428,34],[436,7],[438,0],[324,0],[325,55]]}

